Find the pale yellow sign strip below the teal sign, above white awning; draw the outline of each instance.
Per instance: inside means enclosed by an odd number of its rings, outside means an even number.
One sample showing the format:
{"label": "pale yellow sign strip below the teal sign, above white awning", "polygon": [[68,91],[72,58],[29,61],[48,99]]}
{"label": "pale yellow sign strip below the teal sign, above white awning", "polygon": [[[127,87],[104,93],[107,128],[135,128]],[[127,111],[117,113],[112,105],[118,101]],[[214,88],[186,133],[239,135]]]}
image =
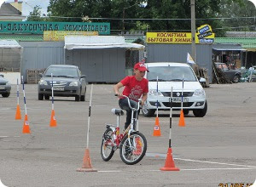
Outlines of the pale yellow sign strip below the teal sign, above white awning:
{"label": "pale yellow sign strip below the teal sign, above white awning", "polygon": [[65,36],[97,36],[97,31],[44,31],[44,41],[64,41]]}

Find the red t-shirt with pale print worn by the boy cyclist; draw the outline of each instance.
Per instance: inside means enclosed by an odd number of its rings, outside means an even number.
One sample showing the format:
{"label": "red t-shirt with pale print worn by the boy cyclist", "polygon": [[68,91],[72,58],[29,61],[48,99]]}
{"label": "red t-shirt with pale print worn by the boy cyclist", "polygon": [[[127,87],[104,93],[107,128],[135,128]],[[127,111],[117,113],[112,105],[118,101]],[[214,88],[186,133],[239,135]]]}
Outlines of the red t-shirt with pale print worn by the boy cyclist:
{"label": "red t-shirt with pale print worn by the boy cyclist", "polygon": [[137,81],[135,76],[127,76],[120,82],[125,86],[123,95],[132,100],[138,101],[143,93],[148,93],[148,79],[146,78]]}

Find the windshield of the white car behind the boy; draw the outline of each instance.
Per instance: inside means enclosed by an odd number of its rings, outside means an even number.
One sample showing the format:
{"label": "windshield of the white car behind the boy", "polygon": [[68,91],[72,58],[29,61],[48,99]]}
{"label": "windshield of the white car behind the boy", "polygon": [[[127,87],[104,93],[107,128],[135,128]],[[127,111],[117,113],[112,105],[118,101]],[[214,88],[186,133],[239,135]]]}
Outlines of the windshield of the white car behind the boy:
{"label": "windshield of the white car behind the boy", "polygon": [[195,74],[190,67],[186,66],[154,66],[148,67],[148,81],[159,82],[196,82]]}

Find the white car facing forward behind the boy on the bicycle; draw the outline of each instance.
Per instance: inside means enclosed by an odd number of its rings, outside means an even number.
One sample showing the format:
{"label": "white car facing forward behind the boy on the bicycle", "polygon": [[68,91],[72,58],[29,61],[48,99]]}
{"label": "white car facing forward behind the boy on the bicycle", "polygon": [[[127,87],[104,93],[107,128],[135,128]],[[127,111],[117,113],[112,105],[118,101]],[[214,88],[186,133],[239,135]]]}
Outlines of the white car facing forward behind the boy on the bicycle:
{"label": "white car facing forward behind the boy on the bicycle", "polygon": [[[148,99],[143,105],[144,116],[154,116],[159,102],[159,111],[170,110],[170,96],[172,88],[172,109],[181,110],[183,92],[183,113],[188,115],[193,111],[197,117],[207,114],[207,98],[205,90],[195,76],[195,72],[187,63],[178,62],[154,62],[146,63],[148,71],[145,78],[148,79]],[[157,93],[158,77],[158,93]],[[205,78],[200,79],[206,82]]]}

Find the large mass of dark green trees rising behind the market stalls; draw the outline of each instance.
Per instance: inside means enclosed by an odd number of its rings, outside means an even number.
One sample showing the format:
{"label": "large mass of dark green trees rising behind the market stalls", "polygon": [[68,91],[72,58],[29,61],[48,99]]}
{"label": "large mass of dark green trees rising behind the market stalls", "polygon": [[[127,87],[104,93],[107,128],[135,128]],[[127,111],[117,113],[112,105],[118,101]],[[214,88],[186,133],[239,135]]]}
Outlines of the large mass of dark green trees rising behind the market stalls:
{"label": "large mass of dark green trees rising behind the market stalls", "polygon": [[[227,22],[214,18],[236,17],[240,11],[248,15],[247,10],[242,10],[243,7],[239,9],[239,6],[246,4],[245,1],[195,0],[196,27],[208,24],[217,37],[224,36],[223,28],[234,26],[236,22],[232,25],[232,20]],[[235,4],[239,6],[232,10],[232,14],[224,14],[225,11],[230,12],[230,6]],[[112,32],[146,31],[147,28],[148,31],[191,31],[190,0],[50,0],[48,11],[50,20],[55,21],[84,21],[91,18],[93,22],[110,22]],[[89,19],[82,19],[85,16]]]}

